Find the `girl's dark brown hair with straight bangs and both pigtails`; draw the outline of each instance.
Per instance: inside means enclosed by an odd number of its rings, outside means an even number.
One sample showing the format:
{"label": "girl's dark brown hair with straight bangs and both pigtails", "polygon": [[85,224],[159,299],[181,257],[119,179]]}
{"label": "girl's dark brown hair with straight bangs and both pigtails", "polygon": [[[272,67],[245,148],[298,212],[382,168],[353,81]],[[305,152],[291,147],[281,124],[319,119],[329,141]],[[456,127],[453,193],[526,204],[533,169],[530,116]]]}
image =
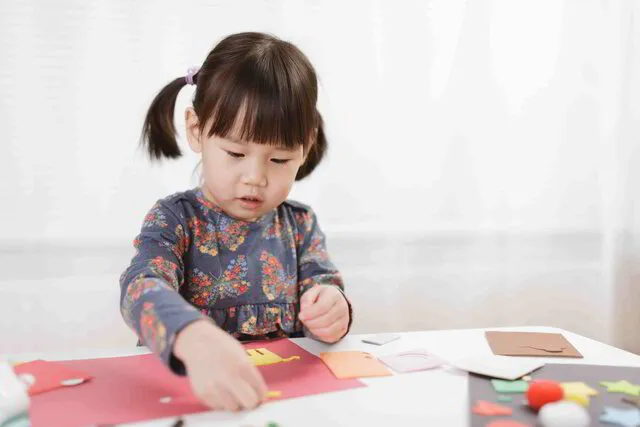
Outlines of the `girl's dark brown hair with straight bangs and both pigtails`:
{"label": "girl's dark brown hair with straight bangs and both pigtails", "polygon": [[[318,81],[309,59],[293,44],[262,33],[233,34],[218,43],[194,75],[193,108],[200,130],[226,137],[238,113],[241,139],[295,148],[307,159],[296,180],[308,176],[327,150],[322,117],[316,109]],[[185,77],[156,95],[142,129],[141,143],[151,159],[181,156],[173,114]]]}

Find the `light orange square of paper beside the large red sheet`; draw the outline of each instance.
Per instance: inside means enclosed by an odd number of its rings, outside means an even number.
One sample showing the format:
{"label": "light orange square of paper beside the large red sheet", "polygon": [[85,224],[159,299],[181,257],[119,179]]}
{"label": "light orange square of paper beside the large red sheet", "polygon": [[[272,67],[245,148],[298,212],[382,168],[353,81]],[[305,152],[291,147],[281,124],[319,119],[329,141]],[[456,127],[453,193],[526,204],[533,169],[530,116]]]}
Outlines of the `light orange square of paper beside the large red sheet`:
{"label": "light orange square of paper beside the large red sheet", "polygon": [[320,353],[320,359],[340,379],[386,377],[391,375],[378,359],[362,351]]}

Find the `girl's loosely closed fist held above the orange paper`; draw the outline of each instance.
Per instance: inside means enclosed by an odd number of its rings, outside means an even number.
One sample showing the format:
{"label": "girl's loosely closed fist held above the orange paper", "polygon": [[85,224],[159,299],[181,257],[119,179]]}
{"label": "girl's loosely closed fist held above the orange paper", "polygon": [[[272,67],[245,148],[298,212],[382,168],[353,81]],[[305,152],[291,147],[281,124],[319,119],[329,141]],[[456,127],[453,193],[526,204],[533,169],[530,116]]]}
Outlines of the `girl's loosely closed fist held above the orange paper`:
{"label": "girl's loosely closed fist held above the orange paper", "polygon": [[349,304],[335,286],[317,285],[302,295],[298,317],[318,339],[335,343],[349,327]]}

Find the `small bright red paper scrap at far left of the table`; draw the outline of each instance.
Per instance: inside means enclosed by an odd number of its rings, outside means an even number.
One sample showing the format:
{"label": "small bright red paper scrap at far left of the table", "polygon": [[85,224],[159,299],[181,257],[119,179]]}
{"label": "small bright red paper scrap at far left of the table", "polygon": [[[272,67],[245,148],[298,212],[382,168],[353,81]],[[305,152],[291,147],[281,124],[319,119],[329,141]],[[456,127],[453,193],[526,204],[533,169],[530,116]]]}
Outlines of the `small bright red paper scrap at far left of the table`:
{"label": "small bright red paper scrap at far left of the table", "polygon": [[62,363],[47,362],[45,360],[34,360],[33,362],[22,363],[13,368],[17,375],[33,375],[35,382],[29,386],[29,396],[55,390],[65,386],[63,381],[81,379],[90,380],[91,375],[86,372],[70,369]]}

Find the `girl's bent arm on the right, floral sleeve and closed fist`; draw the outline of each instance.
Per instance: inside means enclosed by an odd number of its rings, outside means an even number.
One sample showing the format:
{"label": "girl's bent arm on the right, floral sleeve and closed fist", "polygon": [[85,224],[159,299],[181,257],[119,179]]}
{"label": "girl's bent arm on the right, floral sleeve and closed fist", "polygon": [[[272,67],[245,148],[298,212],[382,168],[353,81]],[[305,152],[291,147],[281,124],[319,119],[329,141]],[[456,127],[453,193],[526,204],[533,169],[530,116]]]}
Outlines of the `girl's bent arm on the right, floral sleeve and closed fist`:
{"label": "girl's bent arm on the right, floral sleeve and closed fist", "polygon": [[296,212],[300,320],[305,335],[325,342],[344,337],[353,322],[344,282],[329,258],[325,236],[310,209]]}

